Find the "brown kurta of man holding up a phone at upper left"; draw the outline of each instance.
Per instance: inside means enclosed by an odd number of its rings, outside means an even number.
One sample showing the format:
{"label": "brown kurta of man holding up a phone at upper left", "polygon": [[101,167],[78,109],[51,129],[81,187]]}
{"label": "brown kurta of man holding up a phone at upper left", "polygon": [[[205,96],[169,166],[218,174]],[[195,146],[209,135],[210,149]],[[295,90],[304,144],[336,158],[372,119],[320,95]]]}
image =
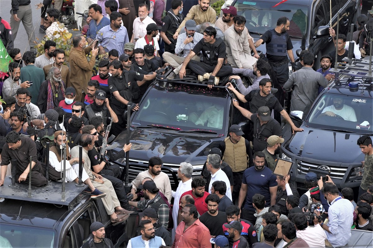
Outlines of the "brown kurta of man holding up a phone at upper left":
{"label": "brown kurta of man holding up a phone at upper left", "polygon": [[96,62],[95,58],[91,58],[88,62],[86,54],[90,54],[92,48],[88,46],[79,51],[75,48],[71,48],[70,51],[70,82],[66,84],[67,87],[74,87],[76,90],[75,101],[84,102],[82,97],[82,90],[87,94],[88,81],[92,77],[92,69]]}

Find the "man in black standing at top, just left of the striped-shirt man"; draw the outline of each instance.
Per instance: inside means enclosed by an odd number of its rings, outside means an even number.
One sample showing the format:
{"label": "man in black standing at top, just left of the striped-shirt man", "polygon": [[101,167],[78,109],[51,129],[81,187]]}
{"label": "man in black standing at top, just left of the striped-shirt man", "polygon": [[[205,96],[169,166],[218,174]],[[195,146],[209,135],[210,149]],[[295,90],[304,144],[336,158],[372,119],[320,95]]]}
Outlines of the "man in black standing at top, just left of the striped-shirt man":
{"label": "man in black standing at top, just left of the striped-shirt man", "polygon": [[180,13],[183,9],[183,2],[181,0],[172,0],[171,7],[172,9],[168,10],[162,20],[163,25],[160,36],[164,41],[164,51],[175,54],[176,39],[172,36],[184,20],[184,16]]}

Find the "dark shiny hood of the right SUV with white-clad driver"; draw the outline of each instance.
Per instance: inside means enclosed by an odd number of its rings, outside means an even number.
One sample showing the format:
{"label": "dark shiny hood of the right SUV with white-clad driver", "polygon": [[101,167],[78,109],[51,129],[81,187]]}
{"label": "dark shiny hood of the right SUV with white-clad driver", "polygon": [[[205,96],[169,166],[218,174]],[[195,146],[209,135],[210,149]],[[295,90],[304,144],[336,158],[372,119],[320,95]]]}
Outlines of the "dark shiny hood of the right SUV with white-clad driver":
{"label": "dark shiny hood of the right SUV with white-clad driver", "polygon": [[[356,145],[360,135],[342,133],[302,126],[303,132],[297,132],[286,142],[284,148],[296,156],[320,161],[333,161],[344,164],[359,163],[364,154]],[[291,144],[291,145],[289,145]]]}

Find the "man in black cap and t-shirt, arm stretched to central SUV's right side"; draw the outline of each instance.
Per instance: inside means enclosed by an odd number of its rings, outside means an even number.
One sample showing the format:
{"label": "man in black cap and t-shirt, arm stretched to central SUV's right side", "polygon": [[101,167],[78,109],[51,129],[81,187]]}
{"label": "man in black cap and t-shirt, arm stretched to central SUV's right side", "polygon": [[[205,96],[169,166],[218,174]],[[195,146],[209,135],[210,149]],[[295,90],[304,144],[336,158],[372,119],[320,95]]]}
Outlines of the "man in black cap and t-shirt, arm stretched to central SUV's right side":
{"label": "man in black cap and t-shirt, arm stretched to central SUV's right side", "polygon": [[253,114],[249,110],[239,106],[236,99],[233,100],[233,105],[245,116],[253,122],[254,129],[254,151],[263,151],[267,147],[267,139],[269,136],[277,135],[281,138],[281,125],[271,117],[269,107],[259,107],[258,113]]}

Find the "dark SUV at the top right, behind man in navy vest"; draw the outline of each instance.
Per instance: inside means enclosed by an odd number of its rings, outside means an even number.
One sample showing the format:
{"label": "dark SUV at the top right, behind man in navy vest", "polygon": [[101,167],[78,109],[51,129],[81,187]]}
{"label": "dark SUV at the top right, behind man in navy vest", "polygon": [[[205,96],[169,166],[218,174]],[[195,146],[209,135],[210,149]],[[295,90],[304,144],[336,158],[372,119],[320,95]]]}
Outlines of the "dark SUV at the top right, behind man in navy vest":
{"label": "dark SUV at the top right, behind man in navy vest", "polygon": [[[348,35],[351,24],[355,24],[361,13],[361,0],[287,0],[283,3],[280,3],[281,0],[235,0],[232,6],[236,7],[237,15],[246,18],[246,27],[255,40],[267,30],[275,28],[279,17],[288,17],[288,33],[294,46],[294,58],[297,59],[297,50],[299,53],[300,49],[307,49],[317,58],[321,58],[329,52],[327,49],[332,41],[329,30],[323,27],[330,26],[330,1],[333,28],[337,26],[339,12],[339,33]],[[265,44],[258,49],[263,51],[263,54],[266,53]],[[320,68],[319,60],[315,59],[317,68]]]}

